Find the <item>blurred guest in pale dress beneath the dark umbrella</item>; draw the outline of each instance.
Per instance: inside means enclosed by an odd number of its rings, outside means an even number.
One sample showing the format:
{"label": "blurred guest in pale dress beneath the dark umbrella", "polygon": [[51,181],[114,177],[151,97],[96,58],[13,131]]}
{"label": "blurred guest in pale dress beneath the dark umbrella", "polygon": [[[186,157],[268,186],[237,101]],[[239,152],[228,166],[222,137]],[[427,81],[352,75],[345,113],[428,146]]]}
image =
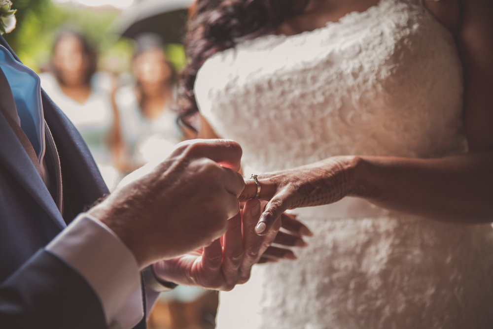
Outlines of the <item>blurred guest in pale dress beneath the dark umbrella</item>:
{"label": "blurred guest in pale dress beneath the dark umbrella", "polygon": [[179,141],[175,99],[176,70],[156,34],[136,40],[132,61],[135,82],[114,95],[122,143],[118,166],[124,172],[169,154]]}

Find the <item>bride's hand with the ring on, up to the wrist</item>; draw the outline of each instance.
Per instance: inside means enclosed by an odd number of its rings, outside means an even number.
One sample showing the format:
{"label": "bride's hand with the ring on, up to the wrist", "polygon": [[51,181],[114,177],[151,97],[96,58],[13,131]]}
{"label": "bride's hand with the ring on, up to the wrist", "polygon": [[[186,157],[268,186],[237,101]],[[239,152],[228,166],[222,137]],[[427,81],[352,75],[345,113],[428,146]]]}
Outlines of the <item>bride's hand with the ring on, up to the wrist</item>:
{"label": "bride's hand with the ring on, up to the wrist", "polygon": [[[328,204],[351,195],[354,189],[351,156],[332,157],[294,169],[258,176],[260,199],[268,200],[255,227],[257,234],[268,234],[287,209]],[[255,197],[257,185],[246,181],[240,200]]]}

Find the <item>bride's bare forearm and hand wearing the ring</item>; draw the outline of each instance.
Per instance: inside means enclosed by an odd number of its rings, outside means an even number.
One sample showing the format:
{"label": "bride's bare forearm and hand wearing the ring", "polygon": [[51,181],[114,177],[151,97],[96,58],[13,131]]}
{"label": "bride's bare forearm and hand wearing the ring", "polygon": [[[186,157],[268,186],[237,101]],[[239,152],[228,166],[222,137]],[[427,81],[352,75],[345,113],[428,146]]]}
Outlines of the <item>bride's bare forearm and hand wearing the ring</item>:
{"label": "bride's bare forearm and hand wearing the ring", "polygon": [[[265,234],[286,209],[351,196],[395,211],[449,223],[491,222],[493,152],[443,158],[344,156],[258,176],[269,200],[255,228]],[[253,180],[240,199],[255,196]]]}

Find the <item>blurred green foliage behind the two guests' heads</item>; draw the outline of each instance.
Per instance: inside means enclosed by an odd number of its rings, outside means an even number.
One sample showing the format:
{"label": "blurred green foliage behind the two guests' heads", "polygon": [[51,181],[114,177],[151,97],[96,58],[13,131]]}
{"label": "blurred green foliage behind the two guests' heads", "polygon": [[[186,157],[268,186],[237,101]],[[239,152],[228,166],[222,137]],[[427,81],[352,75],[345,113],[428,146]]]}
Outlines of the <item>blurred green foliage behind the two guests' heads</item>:
{"label": "blurred green foliage behind the two guests' heads", "polygon": [[[130,69],[133,43],[111,32],[119,11],[113,7],[80,7],[53,3],[51,0],[12,0],[17,9],[17,26],[4,38],[21,61],[35,71],[49,63],[56,33],[69,26],[85,33],[99,49],[101,69],[123,72]],[[168,45],[169,60],[179,70],[185,63],[181,45]]]}

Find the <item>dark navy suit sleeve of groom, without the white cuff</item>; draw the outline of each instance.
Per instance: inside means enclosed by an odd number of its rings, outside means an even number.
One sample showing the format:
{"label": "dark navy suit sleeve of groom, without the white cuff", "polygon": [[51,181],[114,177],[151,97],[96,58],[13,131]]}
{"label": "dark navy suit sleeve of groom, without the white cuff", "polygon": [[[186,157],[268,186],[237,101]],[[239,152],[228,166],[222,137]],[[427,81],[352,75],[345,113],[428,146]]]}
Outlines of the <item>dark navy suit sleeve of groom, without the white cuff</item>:
{"label": "dark navy suit sleeve of groom, without the white cuff", "polygon": [[0,327],[107,328],[103,307],[91,286],[46,250],[38,251],[1,284]]}

